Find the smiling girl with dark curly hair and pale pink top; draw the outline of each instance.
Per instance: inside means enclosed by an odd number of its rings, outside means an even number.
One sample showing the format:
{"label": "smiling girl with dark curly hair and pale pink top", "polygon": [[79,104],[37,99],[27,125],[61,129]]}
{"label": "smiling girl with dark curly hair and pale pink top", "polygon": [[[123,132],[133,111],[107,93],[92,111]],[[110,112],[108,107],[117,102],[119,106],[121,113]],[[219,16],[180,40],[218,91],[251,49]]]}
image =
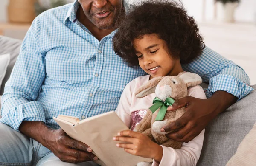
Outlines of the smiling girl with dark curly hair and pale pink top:
{"label": "smiling girl with dark curly hair and pale pink top", "polygon": [[[195,139],[183,143],[181,149],[158,145],[147,136],[132,131],[152,106],[155,94],[136,98],[135,91],[157,76],[177,76],[181,64],[192,62],[201,55],[204,42],[192,17],[175,2],[145,2],[128,13],[113,37],[116,54],[131,66],[140,66],[148,75],[140,76],[126,85],[117,115],[131,128],[113,137],[116,146],[133,155],[152,158],[153,165],[195,166],[203,145],[204,130]],[[188,95],[206,99],[200,86],[189,87]]]}

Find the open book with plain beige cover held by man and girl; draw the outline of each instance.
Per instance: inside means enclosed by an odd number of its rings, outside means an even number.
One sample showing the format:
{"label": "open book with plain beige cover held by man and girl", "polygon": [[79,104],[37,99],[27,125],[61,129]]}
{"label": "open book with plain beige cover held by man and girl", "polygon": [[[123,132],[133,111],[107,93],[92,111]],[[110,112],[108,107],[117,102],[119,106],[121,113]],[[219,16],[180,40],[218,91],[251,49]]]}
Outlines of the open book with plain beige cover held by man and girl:
{"label": "open book with plain beige cover held by man and girl", "polygon": [[96,163],[102,166],[136,166],[141,161],[152,162],[152,159],[142,158],[125,152],[116,147],[118,141],[113,136],[128,127],[114,111],[96,115],[79,121],[72,116],[59,115],[53,119],[71,138],[81,141],[99,158]]}

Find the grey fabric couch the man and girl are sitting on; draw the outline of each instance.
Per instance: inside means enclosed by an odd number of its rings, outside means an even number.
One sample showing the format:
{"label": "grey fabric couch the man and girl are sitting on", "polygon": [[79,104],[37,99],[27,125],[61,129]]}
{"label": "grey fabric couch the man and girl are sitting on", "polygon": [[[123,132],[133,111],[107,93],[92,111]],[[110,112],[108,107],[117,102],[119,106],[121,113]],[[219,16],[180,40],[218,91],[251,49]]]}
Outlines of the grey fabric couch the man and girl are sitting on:
{"label": "grey fabric couch the man and girl are sitting on", "polygon": [[[20,40],[0,36],[0,55],[11,54],[11,63],[3,80],[8,80],[20,51]],[[256,85],[253,86],[256,88]],[[224,113],[218,115],[206,128],[204,146],[198,166],[224,166],[235,154],[239,143],[253,127],[256,121],[256,91],[233,104]]]}

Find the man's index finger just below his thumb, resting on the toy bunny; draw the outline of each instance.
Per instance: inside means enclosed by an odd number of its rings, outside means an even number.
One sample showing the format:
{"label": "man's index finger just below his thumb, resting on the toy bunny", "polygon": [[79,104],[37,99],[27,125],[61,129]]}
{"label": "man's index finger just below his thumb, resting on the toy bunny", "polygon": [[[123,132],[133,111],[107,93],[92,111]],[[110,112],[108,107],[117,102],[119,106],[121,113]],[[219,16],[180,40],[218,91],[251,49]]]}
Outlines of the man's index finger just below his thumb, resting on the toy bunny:
{"label": "man's index finger just below his thumb, resting on the toy bunny", "polygon": [[186,116],[186,113],[184,113],[180,118],[178,118],[176,121],[173,121],[170,124],[167,124],[161,129],[161,132],[171,132],[176,129],[180,129],[184,127],[189,121],[188,116]]}

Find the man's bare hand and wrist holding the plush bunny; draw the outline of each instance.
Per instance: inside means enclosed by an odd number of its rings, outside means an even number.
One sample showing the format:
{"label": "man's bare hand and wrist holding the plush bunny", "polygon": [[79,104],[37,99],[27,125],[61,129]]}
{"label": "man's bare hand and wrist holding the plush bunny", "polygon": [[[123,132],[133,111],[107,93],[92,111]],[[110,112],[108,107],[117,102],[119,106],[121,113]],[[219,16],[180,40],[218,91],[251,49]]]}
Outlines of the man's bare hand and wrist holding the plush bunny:
{"label": "man's bare hand and wrist holding the plush bunny", "polygon": [[180,142],[189,142],[215,118],[237,100],[236,96],[225,91],[216,91],[209,99],[199,99],[186,96],[169,107],[168,111],[175,111],[185,107],[186,112],[176,121],[166,125],[161,132],[174,131],[166,137]]}

